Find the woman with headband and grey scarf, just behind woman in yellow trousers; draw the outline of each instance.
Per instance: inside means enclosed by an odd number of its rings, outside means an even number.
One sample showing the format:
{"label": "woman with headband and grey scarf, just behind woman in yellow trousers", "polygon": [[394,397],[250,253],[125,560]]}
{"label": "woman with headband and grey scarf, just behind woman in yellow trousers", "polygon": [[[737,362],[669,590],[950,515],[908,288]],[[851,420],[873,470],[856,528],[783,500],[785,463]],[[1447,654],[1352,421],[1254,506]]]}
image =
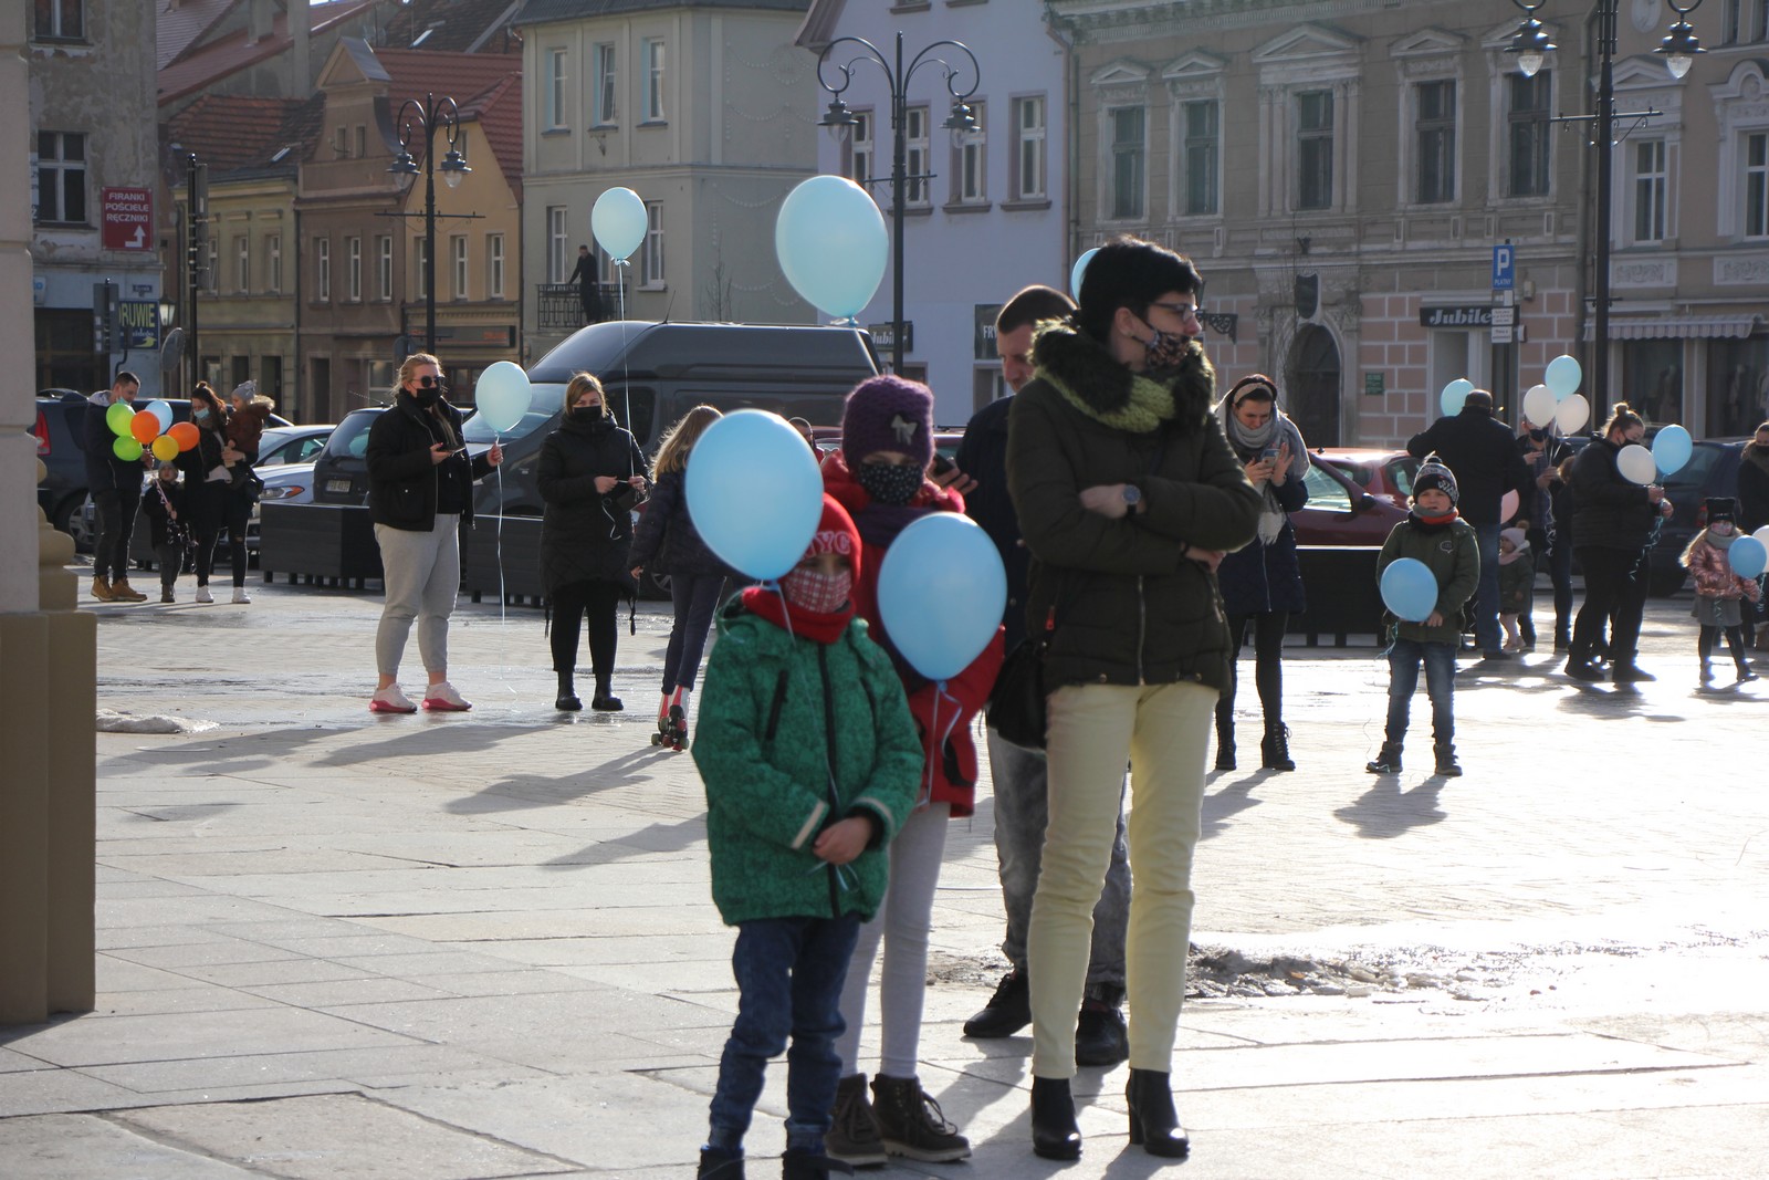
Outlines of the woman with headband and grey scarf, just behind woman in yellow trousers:
{"label": "woman with headband and grey scarf, just behind woman in yellow trousers", "polygon": [[1222,559],[1217,584],[1228,614],[1228,635],[1235,658],[1229,660],[1228,688],[1217,702],[1217,770],[1235,770],[1235,688],[1240,681],[1240,646],[1252,623],[1254,681],[1265,711],[1265,738],[1260,764],[1267,770],[1295,770],[1290,757],[1290,727],[1284,725],[1284,632],[1290,616],[1307,609],[1302,593],[1302,566],[1297,563],[1297,531],[1290,513],[1309,501],[1304,479],[1309,474],[1309,449],[1297,425],[1277,409],[1277,382],[1252,373],[1235,382],[1217,407],[1222,433],[1247,481],[1260,490],[1260,531],[1245,548]]}

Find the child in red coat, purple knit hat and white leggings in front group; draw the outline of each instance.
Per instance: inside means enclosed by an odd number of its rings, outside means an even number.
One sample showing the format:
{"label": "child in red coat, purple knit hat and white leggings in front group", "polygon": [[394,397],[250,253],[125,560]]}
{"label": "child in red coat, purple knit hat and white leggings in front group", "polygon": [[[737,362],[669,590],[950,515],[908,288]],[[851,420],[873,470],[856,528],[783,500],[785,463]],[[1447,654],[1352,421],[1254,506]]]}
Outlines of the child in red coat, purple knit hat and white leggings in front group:
{"label": "child in red coat, purple knit hat and white leggings in front group", "polygon": [[[877,577],[884,552],[909,524],[932,511],[964,511],[964,499],[927,479],[934,458],[934,395],[900,377],[874,377],[847,395],[842,449],[824,460],[823,485],[860,529],[863,559],[854,584],[854,609],[870,635],[890,653],[909,695],[925,757],[922,798],[892,842],[890,888],[867,925],[842,989],[847,1031],[837,1042],[842,1081],[835,1093],[830,1155],[849,1164],[883,1164],[886,1153],[920,1161],[957,1161],[969,1141],[948,1123],[939,1104],[922,1092],[916,1058],[922,1038],[922,996],[927,987],[927,936],[946,844],[946,821],[971,814],[976,791],[976,747],[969,722],[989,697],[1001,667],[1001,635],[955,678],[936,685],[904,662],[879,619]],[[872,959],[884,943],[879,984],[883,1047],[877,1077],[867,1097],[860,1072],[860,1031],[865,1026]]]}

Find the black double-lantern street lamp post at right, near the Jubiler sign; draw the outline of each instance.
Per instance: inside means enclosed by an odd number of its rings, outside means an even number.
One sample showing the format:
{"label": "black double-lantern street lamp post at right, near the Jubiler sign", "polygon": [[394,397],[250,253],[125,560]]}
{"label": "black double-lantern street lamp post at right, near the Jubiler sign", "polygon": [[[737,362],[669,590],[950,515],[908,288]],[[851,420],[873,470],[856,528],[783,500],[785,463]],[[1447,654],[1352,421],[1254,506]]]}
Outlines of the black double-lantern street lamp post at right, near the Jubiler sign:
{"label": "black double-lantern street lamp post at right, near the Jubiler sign", "polygon": [[[1518,25],[1518,32],[1511,37],[1511,44],[1505,46],[1507,53],[1518,55],[1518,73],[1525,78],[1534,78],[1535,71],[1543,67],[1548,55],[1555,51],[1553,41],[1548,37],[1548,30],[1543,23],[1535,19],[1535,11],[1546,0],[1511,0],[1514,5],[1523,9],[1523,23]],[[1654,53],[1665,57],[1665,67],[1670,71],[1672,78],[1682,78],[1689,73],[1689,65],[1695,64],[1696,53],[1705,53],[1700,41],[1695,35],[1695,28],[1686,19],[1689,12],[1702,7],[1702,0],[1695,0],[1689,5],[1679,5],[1677,0],[1668,0],[1673,12],[1677,12],[1677,21],[1670,27],[1668,35],[1659,42]],[[1597,147],[1597,230],[1596,230],[1596,249],[1592,251],[1592,265],[1596,274],[1592,276],[1592,287],[1596,288],[1596,308],[1592,334],[1596,336],[1592,349],[1590,364],[1590,391],[1592,391],[1592,412],[1601,414],[1610,405],[1610,200],[1615,188],[1615,120],[1631,119],[1635,126],[1659,115],[1647,108],[1643,111],[1620,111],[1615,110],[1615,25],[1620,14],[1620,0],[1597,0],[1597,7],[1592,9],[1590,19],[1596,21],[1597,30],[1597,110],[1590,115],[1558,115],[1551,122],[1567,124],[1592,124],[1594,134],[1592,142]]]}

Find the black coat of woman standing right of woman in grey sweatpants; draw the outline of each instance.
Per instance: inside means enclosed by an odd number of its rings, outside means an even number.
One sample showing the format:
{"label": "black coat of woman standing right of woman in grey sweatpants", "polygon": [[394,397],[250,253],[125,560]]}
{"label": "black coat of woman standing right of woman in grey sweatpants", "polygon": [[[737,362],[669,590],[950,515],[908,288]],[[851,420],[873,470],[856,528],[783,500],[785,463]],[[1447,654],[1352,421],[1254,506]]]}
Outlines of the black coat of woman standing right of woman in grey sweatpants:
{"label": "black coat of woman standing right of woman in grey sweatpants", "polygon": [[[619,582],[633,589],[633,490],[626,479],[646,474],[646,456],[612,414],[587,423],[566,418],[541,442],[540,488],[541,586],[554,594],[573,582]],[[619,483],[603,495],[596,476]]]}

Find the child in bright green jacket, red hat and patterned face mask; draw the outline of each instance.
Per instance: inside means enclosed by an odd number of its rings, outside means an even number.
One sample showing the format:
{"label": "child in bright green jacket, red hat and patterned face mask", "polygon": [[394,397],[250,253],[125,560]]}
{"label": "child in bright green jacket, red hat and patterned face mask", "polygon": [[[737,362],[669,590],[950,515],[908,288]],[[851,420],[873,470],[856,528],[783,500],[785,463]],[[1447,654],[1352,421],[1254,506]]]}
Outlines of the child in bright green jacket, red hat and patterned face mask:
{"label": "child in bright green jacket, red hat and patterned face mask", "polygon": [[782,1176],[824,1157],[842,1063],[840,996],[860,923],[884,897],[884,846],[909,817],[922,745],[902,681],[849,600],[860,533],[823,497],[805,557],[718,621],[693,762],[706,784],[713,900],[738,927],[738,1019],[713,1092],[701,1180],[743,1178],[762,1070],[793,1037]]}

